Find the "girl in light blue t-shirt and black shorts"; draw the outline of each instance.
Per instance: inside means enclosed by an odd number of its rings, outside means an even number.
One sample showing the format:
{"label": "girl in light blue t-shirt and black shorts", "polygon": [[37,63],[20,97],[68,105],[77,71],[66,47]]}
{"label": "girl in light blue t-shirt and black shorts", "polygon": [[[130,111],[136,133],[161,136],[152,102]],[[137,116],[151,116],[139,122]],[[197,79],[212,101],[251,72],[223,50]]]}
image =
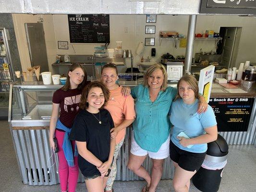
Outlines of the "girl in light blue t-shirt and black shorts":
{"label": "girl in light blue t-shirt and black shorts", "polygon": [[173,187],[175,192],[188,192],[190,179],[205,159],[207,143],[217,139],[218,131],[210,106],[206,112],[197,113],[198,84],[195,77],[183,76],[177,88],[170,117],[173,125],[170,157],[175,166]]}

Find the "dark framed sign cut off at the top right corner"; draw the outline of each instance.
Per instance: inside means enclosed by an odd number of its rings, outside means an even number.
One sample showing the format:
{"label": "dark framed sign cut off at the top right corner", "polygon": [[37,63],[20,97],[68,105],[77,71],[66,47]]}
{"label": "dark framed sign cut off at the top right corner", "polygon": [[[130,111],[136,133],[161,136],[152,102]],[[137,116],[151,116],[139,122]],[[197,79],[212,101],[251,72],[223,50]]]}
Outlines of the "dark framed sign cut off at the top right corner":
{"label": "dark framed sign cut off at the top right corner", "polygon": [[201,0],[200,13],[256,14],[256,0]]}

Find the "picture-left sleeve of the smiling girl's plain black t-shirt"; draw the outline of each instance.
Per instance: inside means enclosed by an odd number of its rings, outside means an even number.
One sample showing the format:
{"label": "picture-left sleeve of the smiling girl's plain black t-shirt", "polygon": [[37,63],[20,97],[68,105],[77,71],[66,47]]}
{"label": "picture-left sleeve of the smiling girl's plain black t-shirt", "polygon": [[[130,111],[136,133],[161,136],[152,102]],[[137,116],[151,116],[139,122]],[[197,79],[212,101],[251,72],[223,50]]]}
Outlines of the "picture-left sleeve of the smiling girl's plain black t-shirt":
{"label": "picture-left sleeve of the smiling girl's plain black t-shirt", "polygon": [[86,123],[85,116],[80,111],[73,121],[72,130],[69,135],[70,140],[86,142]]}

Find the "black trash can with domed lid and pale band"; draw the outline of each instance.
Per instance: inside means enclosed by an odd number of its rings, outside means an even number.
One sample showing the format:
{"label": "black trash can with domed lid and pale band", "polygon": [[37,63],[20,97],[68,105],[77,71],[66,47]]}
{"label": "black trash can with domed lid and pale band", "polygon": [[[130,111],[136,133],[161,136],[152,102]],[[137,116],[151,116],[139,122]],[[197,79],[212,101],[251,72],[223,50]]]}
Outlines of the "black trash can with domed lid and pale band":
{"label": "black trash can with domed lid and pale band", "polygon": [[227,164],[229,146],[218,134],[216,141],[207,144],[203,165],[193,176],[193,184],[201,192],[218,192],[222,171]]}

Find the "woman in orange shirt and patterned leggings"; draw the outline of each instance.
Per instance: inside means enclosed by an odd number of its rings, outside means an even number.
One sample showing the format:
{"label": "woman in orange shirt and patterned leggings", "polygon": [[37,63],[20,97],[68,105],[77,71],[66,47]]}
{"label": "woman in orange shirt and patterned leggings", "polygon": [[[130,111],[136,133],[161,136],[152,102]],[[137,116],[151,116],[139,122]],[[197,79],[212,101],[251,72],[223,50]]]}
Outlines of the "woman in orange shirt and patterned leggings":
{"label": "woman in orange shirt and patterned leggings", "polygon": [[134,99],[131,95],[122,96],[122,86],[116,84],[118,79],[117,73],[117,68],[113,63],[107,63],[101,70],[101,82],[110,90],[110,99],[104,108],[110,112],[114,121],[115,127],[110,132],[111,137],[116,138],[114,159],[105,188],[106,192],[113,192],[112,185],[117,173],[116,159],[124,141],[125,128],[131,125],[135,119]]}

